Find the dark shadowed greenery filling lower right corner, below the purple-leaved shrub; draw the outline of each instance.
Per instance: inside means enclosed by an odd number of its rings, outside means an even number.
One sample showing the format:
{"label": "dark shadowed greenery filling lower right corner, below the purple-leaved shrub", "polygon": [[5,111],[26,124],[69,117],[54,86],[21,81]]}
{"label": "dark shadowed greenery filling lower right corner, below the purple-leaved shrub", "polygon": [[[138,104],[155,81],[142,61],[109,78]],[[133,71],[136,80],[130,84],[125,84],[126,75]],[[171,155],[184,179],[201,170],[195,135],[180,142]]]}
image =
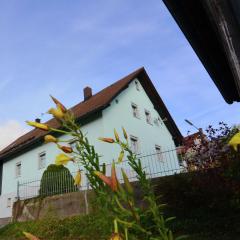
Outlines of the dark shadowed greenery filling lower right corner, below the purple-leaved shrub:
{"label": "dark shadowed greenery filling lower right corner, below the purple-leaved shrub", "polygon": [[226,169],[182,173],[154,181],[155,192],[166,202],[166,215],[175,234],[189,240],[237,240],[240,236],[240,182]]}

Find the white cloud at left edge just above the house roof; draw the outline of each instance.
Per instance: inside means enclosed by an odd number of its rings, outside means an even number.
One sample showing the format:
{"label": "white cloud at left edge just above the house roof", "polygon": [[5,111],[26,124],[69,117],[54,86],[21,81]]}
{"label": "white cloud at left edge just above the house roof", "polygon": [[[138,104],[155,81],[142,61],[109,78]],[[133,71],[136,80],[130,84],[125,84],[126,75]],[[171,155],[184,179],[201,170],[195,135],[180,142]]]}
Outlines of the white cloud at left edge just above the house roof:
{"label": "white cloud at left edge just above the house roof", "polygon": [[0,150],[11,144],[28,130],[15,120],[9,120],[0,125]]}

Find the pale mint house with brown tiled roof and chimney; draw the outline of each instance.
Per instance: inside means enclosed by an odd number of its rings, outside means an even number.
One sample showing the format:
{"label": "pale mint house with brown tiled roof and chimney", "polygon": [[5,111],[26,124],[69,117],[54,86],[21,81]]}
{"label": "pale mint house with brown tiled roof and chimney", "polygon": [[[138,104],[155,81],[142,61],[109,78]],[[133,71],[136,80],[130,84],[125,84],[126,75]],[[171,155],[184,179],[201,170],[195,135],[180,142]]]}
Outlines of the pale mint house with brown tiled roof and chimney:
{"label": "pale mint house with brown tiled roof and chimney", "polygon": [[[144,68],[115,82],[92,95],[84,89],[84,101],[71,108],[87,133],[89,141],[102,155],[102,162],[116,159],[119,149],[98,141],[98,137],[112,137],[113,129],[124,126],[132,148],[137,152],[158,153],[175,149],[182,136]],[[55,119],[48,125],[59,127]],[[11,206],[17,196],[18,181],[40,179],[47,165],[54,162],[59,149],[53,143],[45,144],[46,132],[34,129],[21,136],[0,152],[0,219],[11,217]],[[62,135],[62,139],[68,136]],[[159,158],[159,155],[158,155]],[[177,155],[168,170],[178,166]],[[167,164],[168,160],[157,161]],[[148,159],[151,162],[151,159]],[[145,164],[147,167],[147,164]],[[68,166],[74,171],[73,166]]]}

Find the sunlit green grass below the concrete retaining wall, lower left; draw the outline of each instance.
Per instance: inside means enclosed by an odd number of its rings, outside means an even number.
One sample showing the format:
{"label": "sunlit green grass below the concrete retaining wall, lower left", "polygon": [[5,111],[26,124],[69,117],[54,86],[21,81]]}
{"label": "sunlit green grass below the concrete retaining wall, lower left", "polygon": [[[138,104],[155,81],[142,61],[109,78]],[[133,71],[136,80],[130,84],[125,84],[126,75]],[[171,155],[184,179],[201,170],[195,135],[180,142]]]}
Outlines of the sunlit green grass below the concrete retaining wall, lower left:
{"label": "sunlit green grass below the concrete retaining wall, lower left", "polygon": [[41,240],[105,240],[111,235],[109,222],[102,216],[88,215],[65,219],[46,218],[38,221],[10,223],[0,229],[1,240],[23,240],[30,232]]}

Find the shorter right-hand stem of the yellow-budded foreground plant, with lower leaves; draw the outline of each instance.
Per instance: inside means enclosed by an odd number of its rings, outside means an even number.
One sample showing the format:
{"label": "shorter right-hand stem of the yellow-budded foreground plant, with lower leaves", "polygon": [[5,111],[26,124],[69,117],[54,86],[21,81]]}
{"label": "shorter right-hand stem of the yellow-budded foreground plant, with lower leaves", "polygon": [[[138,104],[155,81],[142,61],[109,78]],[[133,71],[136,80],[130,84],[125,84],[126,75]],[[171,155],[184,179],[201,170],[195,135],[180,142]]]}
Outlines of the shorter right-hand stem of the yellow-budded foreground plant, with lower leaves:
{"label": "shorter right-hand stem of the yellow-budded foreground plant, with lower leaves", "polygon": [[[124,155],[127,156],[127,163],[135,171],[136,177],[140,188],[142,189],[143,199],[146,202],[146,208],[139,208],[136,206],[136,200],[134,195],[134,188],[132,187],[127,174],[122,169],[122,177],[124,184],[114,194],[114,206],[113,211],[117,213],[117,221],[123,226],[125,233],[126,230],[134,230],[138,232],[144,239],[174,239],[172,231],[167,227],[167,223],[174,219],[165,219],[163,209],[165,204],[158,204],[156,196],[154,194],[152,185],[146,172],[144,171],[141,160],[137,158],[137,155],[131,150],[128,144],[128,135],[123,128],[124,141],[121,141],[116,130],[114,130],[115,139],[100,138],[103,142],[117,144],[120,147],[119,158],[122,161]],[[121,162],[117,161],[117,162]],[[98,176],[107,184],[109,183],[101,175]],[[112,189],[113,190],[113,189]],[[150,221],[152,224],[147,225],[146,222]],[[126,237],[125,237],[126,238]],[[141,238],[141,239],[142,239]],[[181,236],[176,239],[183,239],[186,236]],[[127,239],[127,238],[126,238]]]}

